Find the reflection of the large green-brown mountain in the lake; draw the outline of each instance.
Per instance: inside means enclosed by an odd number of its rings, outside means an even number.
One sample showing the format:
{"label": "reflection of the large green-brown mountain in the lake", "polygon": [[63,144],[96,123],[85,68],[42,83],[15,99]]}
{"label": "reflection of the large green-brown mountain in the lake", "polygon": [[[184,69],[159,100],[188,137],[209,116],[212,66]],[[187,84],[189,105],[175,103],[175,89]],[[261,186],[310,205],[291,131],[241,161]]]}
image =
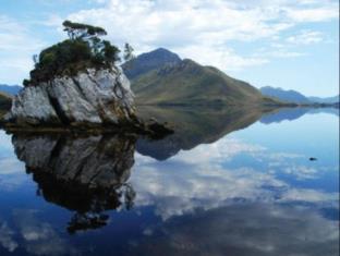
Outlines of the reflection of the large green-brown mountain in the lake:
{"label": "reflection of the large green-brown mountain in the lake", "polygon": [[150,117],[169,122],[174,133],[158,142],[138,139],[136,149],[145,156],[166,160],[181,149],[190,150],[199,144],[210,144],[227,134],[256,122],[264,110],[259,108],[216,107],[141,107],[142,119]]}

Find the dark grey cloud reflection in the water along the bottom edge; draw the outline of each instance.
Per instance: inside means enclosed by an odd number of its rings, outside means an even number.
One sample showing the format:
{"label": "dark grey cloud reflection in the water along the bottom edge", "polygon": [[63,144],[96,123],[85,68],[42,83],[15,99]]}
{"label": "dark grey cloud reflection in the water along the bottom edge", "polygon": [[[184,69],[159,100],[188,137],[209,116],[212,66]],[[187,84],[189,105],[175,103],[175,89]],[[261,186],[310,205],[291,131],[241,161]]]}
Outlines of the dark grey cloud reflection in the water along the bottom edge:
{"label": "dark grey cloud reflection in the water along the bottom edge", "polygon": [[307,208],[234,203],[149,229],[132,255],[330,256],[338,237],[332,221]]}

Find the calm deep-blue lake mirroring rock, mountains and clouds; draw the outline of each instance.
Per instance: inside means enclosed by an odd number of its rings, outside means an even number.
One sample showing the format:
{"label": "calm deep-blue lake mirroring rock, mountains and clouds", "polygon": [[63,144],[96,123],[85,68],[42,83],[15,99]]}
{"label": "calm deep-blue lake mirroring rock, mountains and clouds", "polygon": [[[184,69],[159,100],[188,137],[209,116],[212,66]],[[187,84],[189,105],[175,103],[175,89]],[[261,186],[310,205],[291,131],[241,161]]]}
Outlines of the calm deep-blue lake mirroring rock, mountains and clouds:
{"label": "calm deep-blue lake mirroring rock, mountains and clouds", "polygon": [[0,130],[0,255],[339,254],[339,110],[138,114],[174,134]]}

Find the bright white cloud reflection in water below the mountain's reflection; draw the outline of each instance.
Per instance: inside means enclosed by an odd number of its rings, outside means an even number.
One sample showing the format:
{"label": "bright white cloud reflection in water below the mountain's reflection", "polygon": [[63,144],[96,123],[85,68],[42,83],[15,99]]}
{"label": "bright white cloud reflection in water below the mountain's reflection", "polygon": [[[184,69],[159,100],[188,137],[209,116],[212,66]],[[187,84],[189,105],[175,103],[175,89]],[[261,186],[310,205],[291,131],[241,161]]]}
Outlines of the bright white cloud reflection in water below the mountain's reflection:
{"label": "bright white cloud reflection in water below the mountain's reflection", "polygon": [[[234,162],[239,156],[251,158],[256,164],[240,167]],[[305,158],[296,154],[270,153],[265,147],[236,138],[222,138],[191,151],[180,151],[167,162],[136,154],[136,170],[131,179],[137,192],[135,204],[154,205],[163,220],[194,212],[197,208],[208,210],[238,200],[308,203],[314,208],[338,209],[338,193],[298,188],[280,178],[282,172],[299,179],[317,176],[319,173],[314,169],[296,164],[299,159]]]}

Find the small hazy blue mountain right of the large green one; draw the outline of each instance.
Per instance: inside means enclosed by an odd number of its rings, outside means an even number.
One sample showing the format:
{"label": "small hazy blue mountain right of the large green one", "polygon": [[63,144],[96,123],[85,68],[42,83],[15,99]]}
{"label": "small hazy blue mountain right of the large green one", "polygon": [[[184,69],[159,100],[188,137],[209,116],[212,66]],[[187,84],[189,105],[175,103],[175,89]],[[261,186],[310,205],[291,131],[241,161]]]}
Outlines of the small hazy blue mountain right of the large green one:
{"label": "small hazy blue mountain right of the large green one", "polygon": [[296,90],[284,90],[271,86],[262,87],[260,93],[268,97],[274,97],[282,101],[294,103],[311,103],[309,99]]}

